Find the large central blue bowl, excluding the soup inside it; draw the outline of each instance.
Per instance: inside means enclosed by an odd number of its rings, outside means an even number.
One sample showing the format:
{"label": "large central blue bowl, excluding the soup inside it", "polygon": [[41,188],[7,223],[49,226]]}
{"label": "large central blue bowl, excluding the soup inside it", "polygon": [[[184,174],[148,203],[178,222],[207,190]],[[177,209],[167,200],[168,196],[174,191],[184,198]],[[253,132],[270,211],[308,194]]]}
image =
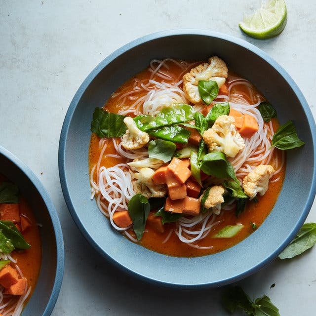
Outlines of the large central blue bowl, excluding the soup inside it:
{"label": "large central blue bowl, excluding the soup inside it", "polygon": [[[95,201],[90,200],[88,148],[92,113],[154,58],[206,60],[213,55],[220,56],[229,69],[264,93],[275,106],[281,124],[292,119],[306,145],[287,152],[285,181],[276,205],[252,235],[217,254],[169,257],[134,244],[114,231]],[[304,223],[316,190],[315,135],[315,122],[302,92],[265,52],[243,40],[211,31],[164,31],[119,48],[83,81],[62,127],[60,181],[79,230],[105,258],[133,275],[161,285],[215,287],[249,276],[267,265]]]}

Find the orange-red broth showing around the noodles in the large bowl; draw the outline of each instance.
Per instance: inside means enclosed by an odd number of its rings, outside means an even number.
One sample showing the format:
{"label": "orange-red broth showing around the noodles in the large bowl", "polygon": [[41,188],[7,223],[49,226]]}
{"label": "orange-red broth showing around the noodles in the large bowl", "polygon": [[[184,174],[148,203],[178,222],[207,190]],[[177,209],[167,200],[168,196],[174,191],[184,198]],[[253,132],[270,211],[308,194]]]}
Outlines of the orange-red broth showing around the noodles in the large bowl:
{"label": "orange-red broth showing around the noodles in the large bowl", "polygon": [[[164,73],[173,73],[176,75],[181,75],[181,72],[179,69],[173,65],[168,64],[170,67],[169,70],[164,70]],[[190,70],[189,70],[190,71]],[[105,104],[104,109],[111,113],[117,113],[119,110],[124,109],[125,106],[130,106],[134,101],[129,100],[126,98],[124,104],[121,104],[118,102],[118,94],[125,93],[127,91],[130,91],[133,89],[133,80],[136,78],[138,80],[144,80],[148,79],[151,76],[151,73],[146,69],[139,74],[135,75],[133,78],[126,81],[124,84],[122,84],[115,93],[112,94],[108,102]],[[229,72],[229,76],[236,76],[236,74],[233,74],[232,72]],[[181,78],[180,78],[181,79]],[[156,78],[157,81],[159,79]],[[160,79],[161,81],[161,79]],[[246,100],[250,100],[249,96],[249,90],[242,87],[242,85],[236,85],[232,89],[238,90],[238,93],[241,93],[243,97]],[[255,87],[252,87],[253,93],[259,93]],[[135,93],[133,95],[136,96],[143,96],[146,92],[141,91],[139,93]],[[264,100],[264,97],[262,96],[262,100]],[[276,118],[273,118],[272,120],[273,126],[276,129],[279,126],[279,123]],[[266,124],[266,123],[265,123]],[[98,163],[98,159],[100,157],[101,148],[99,148],[99,141],[100,138],[92,133],[91,140],[90,140],[90,147],[89,147],[89,171],[91,172],[92,167]],[[119,141],[119,140],[118,140]],[[106,148],[106,154],[117,154],[116,150],[114,148],[112,140],[107,140],[108,146]],[[275,150],[273,159],[276,159],[276,157],[281,158],[281,153],[279,150]],[[118,163],[126,163],[128,159],[126,158],[114,158],[114,157],[102,157],[101,159],[101,166],[105,167],[112,167]],[[158,233],[156,230],[154,230],[149,225],[146,225],[144,235],[139,242],[142,246],[149,248],[151,250],[154,250],[156,252],[170,255],[170,256],[177,256],[177,257],[197,257],[202,255],[208,255],[216,252],[220,252],[222,250],[225,250],[247,236],[249,236],[254,229],[252,228],[252,225],[250,222],[255,223],[257,228],[263,223],[263,221],[266,219],[266,217],[271,212],[274,204],[276,203],[276,199],[279,195],[279,192],[282,188],[284,176],[285,176],[285,163],[281,169],[281,171],[278,173],[279,181],[275,183],[269,183],[269,189],[266,192],[264,196],[258,196],[258,203],[254,201],[248,201],[246,204],[246,208],[244,212],[239,215],[237,218],[235,215],[235,210],[231,211],[225,211],[222,212],[219,215],[219,218],[223,220],[220,224],[214,226],[207,237],[204,239],[198,240],[195,242],[198,246],[210,246],[212,245],[213,248],[211,249],[197,249],[194,247],[191,247],[187,245],[186,243],[179,240],[177,235],[174,233],[175,230],[175,223],[168,223],[164,224],[165,230],[164,233]],[[94,180],[96,181],[96,173],[94,173]],[[273,177],[271,180],[275,179]],[[219,232],[222,228],[224,228],[227,225],[236,225],[236,224],[242,224],[244,225],[244,228],[234,237],[232,238],[212,238],[217,232]],[[163,243],[165,238],[170,233],[170,230],[173,230],[173,233],[171,234],[170,238]],[[129,233],[133,235],[132,229],[129,230]]]}

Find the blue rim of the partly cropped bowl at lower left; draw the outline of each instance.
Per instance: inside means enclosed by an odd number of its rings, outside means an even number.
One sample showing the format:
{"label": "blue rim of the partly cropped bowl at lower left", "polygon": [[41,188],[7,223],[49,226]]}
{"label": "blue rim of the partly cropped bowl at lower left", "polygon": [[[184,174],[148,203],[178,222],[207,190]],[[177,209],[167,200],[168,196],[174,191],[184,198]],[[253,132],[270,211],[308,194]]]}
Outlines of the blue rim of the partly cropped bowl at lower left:
{"label": "blue rim of the partly cropped bowl at lower left", "polygon": [[33,185],[39,192],[40,196],[42,197],[52,221],[53,230],[55,232],[56,250],[57,250],[56,273],[55,273],[54,285],[53,285],[49,300],[42,314],[42,316],[49,316],[51,315],[54,309],[54,306],[56,304],[57,298],[59,296],[61,284],[63,281],[64,264],[65,264],[64,238],[63,238],[63,233],[60,226],[60,221],[57,215],[57,211],[55,209],[55,206],[50,196],[48,195],[48,192],[44,188],[43,184],[40,182],[39,178],[22,160],[14,156],[11,152],[9,152],[7,149],[5,149],[2,146],[0,146],[0,155],[3,155],[5,158],[10,160],[33,183]]}

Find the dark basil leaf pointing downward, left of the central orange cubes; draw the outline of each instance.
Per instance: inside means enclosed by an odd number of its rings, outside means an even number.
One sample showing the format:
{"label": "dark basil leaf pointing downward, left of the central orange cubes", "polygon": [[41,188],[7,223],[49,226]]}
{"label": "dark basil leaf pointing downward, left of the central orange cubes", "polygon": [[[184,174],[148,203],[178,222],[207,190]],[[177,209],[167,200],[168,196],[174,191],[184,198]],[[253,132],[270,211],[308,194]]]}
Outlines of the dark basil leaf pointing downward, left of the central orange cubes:
{"label": "dark basil leaf pointing downward, left of the central orange cubes", "polygon": [[134,195],[128,202],[128,214],[133,222],[133,230],[136,234],[137,240],[142,239],[148,214],[150,211],[150,204],[148,199],[140,193]]}

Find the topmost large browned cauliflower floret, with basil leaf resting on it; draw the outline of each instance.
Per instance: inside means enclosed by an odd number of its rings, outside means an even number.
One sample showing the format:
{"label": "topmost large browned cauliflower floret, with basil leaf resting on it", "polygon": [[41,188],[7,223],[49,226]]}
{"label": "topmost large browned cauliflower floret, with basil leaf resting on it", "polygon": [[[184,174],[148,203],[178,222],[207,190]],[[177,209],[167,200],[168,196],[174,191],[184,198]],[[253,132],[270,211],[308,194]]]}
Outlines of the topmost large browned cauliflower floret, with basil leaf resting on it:
{"label": "topmost large browned cauliflower floret, with basil leaf resting on it", "polygon": [[183,91],[186,98],[194,104],[201,102],[197,88],[198,81],[213,80],[220,88],[225,83],[227,74],[228,69],[222,59],[217,56],[209,58],[207,63],[198,65],[183,76]]}

